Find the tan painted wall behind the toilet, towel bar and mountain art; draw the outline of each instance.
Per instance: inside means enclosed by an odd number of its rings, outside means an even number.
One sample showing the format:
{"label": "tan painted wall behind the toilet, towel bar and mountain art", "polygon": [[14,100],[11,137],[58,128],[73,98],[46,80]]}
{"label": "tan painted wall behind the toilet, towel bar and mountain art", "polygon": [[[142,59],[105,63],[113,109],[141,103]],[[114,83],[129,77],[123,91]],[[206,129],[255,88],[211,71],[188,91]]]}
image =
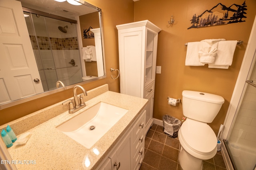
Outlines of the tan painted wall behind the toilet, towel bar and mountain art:
{"label": "tan painted wall behind the toilet, towel bar and mountain art", "polygon": [[[218,133],[228,110],[256,14],[256,1],[246,0],[248,10],[245,11],[245,22],[187,29],[191,26],[190,20],[194,14],[202,14],[220,2],[231,6],[242,4],[244,0],[139,0],[134,3],[134,21],[150,20],[162,29],[158,38],[156,62],[157,66],[162,66],[162,73],[156,74],[154,118],[162,120],[163,115],[169,114],[182,119],[182,104],[170,106],[167,97],[182,99],[183,90],[218,94],[225,99],[225,103],[210,123],[215,133]],[[169,25],[168,20],[172,15],[175,21]],[[208,68],[207,65],[185,66],[186,42],[218,38],[244,41],[242,45],[237,45],[229,69]]]}

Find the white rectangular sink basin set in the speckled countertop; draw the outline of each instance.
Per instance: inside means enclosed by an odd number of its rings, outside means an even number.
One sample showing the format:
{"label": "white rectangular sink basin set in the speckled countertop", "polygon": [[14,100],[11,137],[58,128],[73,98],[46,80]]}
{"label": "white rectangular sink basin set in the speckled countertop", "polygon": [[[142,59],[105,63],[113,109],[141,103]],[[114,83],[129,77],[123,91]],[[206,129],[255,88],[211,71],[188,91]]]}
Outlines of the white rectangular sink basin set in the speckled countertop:
{"label": "white rectangular sink basin set in the speckled countertop", "polygon": [[[57,129],[90,149],[128,110],[100,102]],[[94,129],[91,130],[90,129]]]}

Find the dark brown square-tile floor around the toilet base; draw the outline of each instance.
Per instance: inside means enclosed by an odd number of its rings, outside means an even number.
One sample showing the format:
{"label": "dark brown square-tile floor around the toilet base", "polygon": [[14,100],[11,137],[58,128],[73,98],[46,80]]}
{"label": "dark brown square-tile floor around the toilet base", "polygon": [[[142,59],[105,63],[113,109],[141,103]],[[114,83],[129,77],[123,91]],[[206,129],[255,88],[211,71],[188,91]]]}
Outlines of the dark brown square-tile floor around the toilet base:
{"label": "dark brown square-tile floor around the toilet base", "polygon": [[[169,137],[163,127],[153,124],[145,139],[145,156],[140,170],[182,170],[178,163],[180,142]],[[226,170],[221,152],[203,161],[203,170]]]}

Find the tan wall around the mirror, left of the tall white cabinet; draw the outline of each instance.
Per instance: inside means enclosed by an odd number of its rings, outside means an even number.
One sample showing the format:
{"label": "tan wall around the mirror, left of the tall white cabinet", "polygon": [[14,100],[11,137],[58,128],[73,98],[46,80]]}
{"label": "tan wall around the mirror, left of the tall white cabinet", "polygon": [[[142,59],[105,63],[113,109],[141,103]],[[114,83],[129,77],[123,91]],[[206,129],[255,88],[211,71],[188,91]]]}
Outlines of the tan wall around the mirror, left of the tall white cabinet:
{"label": "tan wall around the mirror, left of the tall white cabinet", "polygon": [[[112,80],[110,68],[119,68],[118,60],[118,37],[116,25],[133,22],[134,2],[132,0],[86,0],[90,4],[102,9],[104,45],[106,58],[107,78],[86,84],[85,90],[90,90],[108,84],[109,89],[120,92],[120,82],[118,79]],[[80,92],[82,93],[82,92]],[[0,125],[18,119],[24,115],[38,111],[73,96],[72,89],[59,92],[44,98],[26,102],[17,106],[0,110]]]}

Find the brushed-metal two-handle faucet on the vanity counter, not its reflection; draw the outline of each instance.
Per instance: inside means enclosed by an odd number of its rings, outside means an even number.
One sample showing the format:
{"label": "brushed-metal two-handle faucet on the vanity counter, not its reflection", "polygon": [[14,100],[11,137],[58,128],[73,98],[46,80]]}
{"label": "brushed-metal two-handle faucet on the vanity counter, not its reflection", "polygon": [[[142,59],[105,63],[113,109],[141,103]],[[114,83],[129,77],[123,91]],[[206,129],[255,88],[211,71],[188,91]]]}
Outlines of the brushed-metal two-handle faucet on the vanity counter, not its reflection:
{"label": "brushed-metal two-handle faucet on the vanity counter, not its reflection", "polygon": [[82,109],[83,107],[86,106],[86,104],[84,103],[84,98],[83,98],[82,94],[80,94],[80,103],[78,102],[78,97],[77,97],[77,94],[76,94],[76,90],[78,88],[80,88],[83,91],[84,96],[87,96],[87,92],[86,92],[86,90],[84,90],[84,88],[82,86],[79,86],[79,85],[74,86],[73,93],[74,93],[75,106],[73,105],[73,102],[72,102],[71,99],[62,103],[62,105],[69,104],[68,113],[75,113],[76,111],[78,111],[78,110],[80,110],[80,109]]}

